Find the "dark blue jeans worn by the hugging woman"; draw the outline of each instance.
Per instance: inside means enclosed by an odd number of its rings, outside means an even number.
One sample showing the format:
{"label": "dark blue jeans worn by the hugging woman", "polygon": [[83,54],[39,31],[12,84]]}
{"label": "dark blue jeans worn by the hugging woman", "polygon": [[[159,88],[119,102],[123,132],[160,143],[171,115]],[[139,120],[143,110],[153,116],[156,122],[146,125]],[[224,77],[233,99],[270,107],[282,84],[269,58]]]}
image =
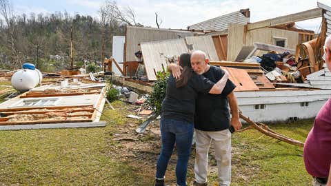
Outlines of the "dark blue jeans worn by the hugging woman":
{"label": "dark blue jeans worn by the hugging woman", "polygon": [[157,178],[163,178],[167,170],[168,161],[172,155],[174,144],[177,148],[176,178],[177,185],[186,185],[186,173],[188,172],[188,159],[190,158],[192,138],[194,132],[193,123],[161,118],[162,149],[157,161]]}

